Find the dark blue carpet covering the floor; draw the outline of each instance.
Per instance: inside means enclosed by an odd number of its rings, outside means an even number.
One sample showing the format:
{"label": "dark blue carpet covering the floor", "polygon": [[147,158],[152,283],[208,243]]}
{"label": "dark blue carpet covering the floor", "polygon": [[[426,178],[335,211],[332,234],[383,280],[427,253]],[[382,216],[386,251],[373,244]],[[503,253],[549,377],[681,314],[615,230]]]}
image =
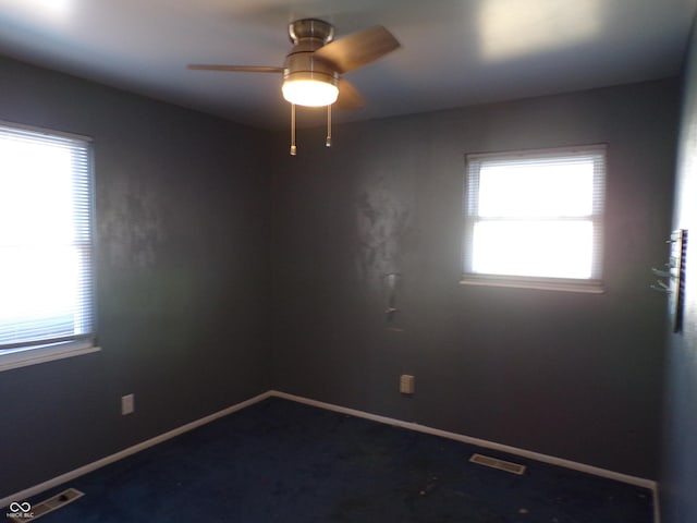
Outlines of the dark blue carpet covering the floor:
{"label": "dark blue carpet covering the floor", "polygon": [[[523,476],[468,462],[474,452]],[[41,523],[651,523],[647,489],[269,399],[44,492]]]}

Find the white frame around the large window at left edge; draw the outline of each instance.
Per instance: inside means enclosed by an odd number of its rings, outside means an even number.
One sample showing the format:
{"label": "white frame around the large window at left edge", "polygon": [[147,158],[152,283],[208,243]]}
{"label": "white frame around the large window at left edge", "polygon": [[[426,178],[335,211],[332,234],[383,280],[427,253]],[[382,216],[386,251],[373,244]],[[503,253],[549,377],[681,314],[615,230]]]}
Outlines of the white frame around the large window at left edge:
{"label": "white frame around the large window at left edge", "polygon": [[35,365],[39,363],[50,362],[54,360],[61,360],[65,357],[77,356],[81,354],[88,354],[96,351],[99,351],[100,348],[96,344],[96,299],[95,299],[95,288],[96,288],[96,277],[95,277],[95,210],[94,210],[94,160],[93,160],[93,150],[91,150],[91,138],[81,135],[74,135],[69,133],[57,132],[47,129],[34,127],[28,125],[22,125],[13,122],[0,121],[0,130],[3,132],[14,134],[17,136],[23,135],[24,138],[29,141],[46,141],[50,142],[56,138],[57,141],[64,141],[64,144],[69,143],[81,143],[83,144],[84,155],[86,167],[83,169],[83,172],[86,173],[85,179],[83,179],[83,183],[87,186],[88,192],[88,210],[86,212],[87,219],[89,220],[87,232],[88,234],[88,248],[90,251],[89,254],[89,282],[88,285],[88,297],[86,299],[86,304],[89,309],[89,315],[91,316],[91,329],[86,333],[74,333],[74,336],[66,336],[64,338],[57,338],[53,340],[40,340],[35,344],[25,344],[25,343],[16,343],[16,346],[12,344],[5,345],[0,349],[0,372],[9,370],[12,368],[23,367],[27,365]]}

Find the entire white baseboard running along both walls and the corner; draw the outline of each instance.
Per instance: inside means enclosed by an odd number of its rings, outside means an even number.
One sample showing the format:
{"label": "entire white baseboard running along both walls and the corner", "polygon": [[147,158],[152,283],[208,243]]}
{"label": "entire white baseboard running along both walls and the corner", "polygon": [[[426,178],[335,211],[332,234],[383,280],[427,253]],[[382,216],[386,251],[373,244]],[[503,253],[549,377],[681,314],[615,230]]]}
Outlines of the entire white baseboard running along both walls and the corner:
{"label": "entire white baseboard running along both walls and the corner", "polygon": [[570,460],[565,460],[562,458],[557,458],[553,455],[548,455],[548,454],[541,454],[539,452],[533,452],[529,450],[525,450],[525,449],[518,449],[516,447],[510,447],[508,445],[501,445],[501,443],[496,443],[492,441],[487,441],[484,439],[479,439],[479,438],[472,438],[469,436],[464,436],[462,434],[457,434],[457,433],[450,433],[447,430],[441,430],[438,428],[432,428],[432,427],[428,427],[426,425],[419,425],[418,423],[413,423],[413,422],[404,422],[401,419],[395,419],[392,417],[386,417],[386,416],[380,416],[378,414],[370,414],[368,412],[364,412],[364,411],[357,411],[355,409],[347,409],[345,406],[339,406],[339,405],[334,405],[332,403],[326,403],[322,401],[317,401],[317,400],[311,400],[309,398],[304,398],[301,396],[295,396],[295,394],[289,394],[286,392],[281,392],[278,390],[268,390],[267,392],[264,392],[259,396],[255,396],[254,398],[250,398],[246,401],[243,401],[241,403],[236,403],[232,406],[229,406],[228,409],[224,409],[222,411],[216,412],[213,414],[210,414],[206,417],[201,417],[200,419],[197,419],[195,422],[188,423],[186,425],[182,425],[179,428],[175,428],[173,430],[170,430],[168,433],[164,433],[160,436],[156,436],[155,438],[148,439],[147,441],[143,441],[138,445],[134,445],[133,447],[129,447],[127,449],[124,449],[120,452],[117,452],[115,454],[111,454],[108,455],[107,458],[102,458],[101,460],[95,461],[94,463],[89,463],[87,465],[81,466],[80,469],[75,469],[74,471],[68,472],[65,474],[61,474],[58,477],[54,477],[52,479],[49,479],[47,482],[44,482],[39,485],[35,485],[34,487],[27,488],[25,490],[22,490],[20,492],[15,492],[11,496],[8,496],[5,498],[0,499],[0,507],[7,507],[10,503],[14,502],[14,501],[24,501],[27,498],[30,498],[32,496],[36,496],[45,490],[48,490],[49,488],[53,488],[57,487],[59,485],[62,485],[65,482],[69,482],[71,479],[75,479],[76,477],[80,477],[84,474],[87,474],[89,472],[96,471],[97,469],[100,469],[105,465],[114,463],[119,460],[122,460],[129,455],[135,454],[136,452],[139,452],[142,450],[145,450],[149,447],[154,447],[158,443],[161,443],[163,441],[167,441],[168,439],[171,439],[175,436],[180,436],[181,434],[187,433],[189,430],[193,430],[194,428],[200,427],[201,425],[206,425],[210,422],[213,422],[220,417],[227,416],[229,414],[232,414],[233,412],[240,411],[242,409],[245,409],[247,406],[254,405],[255,403],[258,403],[260,401],[264,401],[268,398],[281,398],[284,400],[290,400],[290,401],[295,401],[297,403],[304,403],[306,405],[310,405],[310,406],[317,406],[320,409],[326,409],[329,411],[333,411],[333,412],[339,412],[342,414],[347,414],[351,416],[356,416],[356,417],[362,417],[365,419],[370,419],[374,422],[378,422],[378,423],[384,423],[387,425],[392,425],[395,427],[402,427],[402,428],[406,428],[409,430],[416,430],[419,433],[424,433],[424,434],[430,434],[433,436],[440,436],[442,438],[448,438],[448,439],[452,439],[455,441],[461,441],[463,443],[469,443],[469,445],[475,445],[477,447],[481,447],[485,449],[491,449],[491,450],[498,450],[501,452],[506,452],[510,454],[514,454],[514,455],[519,455],[522,458],[527,458],[530,460],[535,460],[535,461],[540,461],[542,463],[549,463],[551,465],[557,465],[557,466],[562,466],[565,469],[571,469],[573,471],[578,471],[578,472],[584,472],[586,474],[592,474],[596,476],[600,476],[600,477],[604,477],[608,479],[614,479],[616,482],[622,482],[622,483],[626,483],[629,485],[635,485],[638,487],[644,487],[644,488],[648,488],[652,491],[653,495],[653,521],[655,523],[659,523],[660,522],[660,511],[659,511],[659,499],[658,499],[658,484],[655,481],[651,479],[645,479],[643,477],[636,477],[636,476],[631,476],[627,474],[622,474],[619,472],[613,472],[613,471],[609,471],[606,469],[600,469],[598,466],[592,466],[592,465],[586,465],[584,463],[577,463],[575,461],[570,461]]}

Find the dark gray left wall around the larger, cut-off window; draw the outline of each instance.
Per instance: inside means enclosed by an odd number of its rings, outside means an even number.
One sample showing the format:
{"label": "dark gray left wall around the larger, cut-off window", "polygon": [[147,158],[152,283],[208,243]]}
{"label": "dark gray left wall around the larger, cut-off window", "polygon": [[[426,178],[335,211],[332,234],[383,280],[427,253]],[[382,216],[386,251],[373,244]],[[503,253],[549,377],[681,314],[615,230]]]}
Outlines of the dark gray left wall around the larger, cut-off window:
{"label": "dark gray left wall around the larger, cut-off window", "polygon": [[259,132],[5,59],[0,93],[0,120],[95,139],[102,348],[0,373],[1,498],[271,384]]}

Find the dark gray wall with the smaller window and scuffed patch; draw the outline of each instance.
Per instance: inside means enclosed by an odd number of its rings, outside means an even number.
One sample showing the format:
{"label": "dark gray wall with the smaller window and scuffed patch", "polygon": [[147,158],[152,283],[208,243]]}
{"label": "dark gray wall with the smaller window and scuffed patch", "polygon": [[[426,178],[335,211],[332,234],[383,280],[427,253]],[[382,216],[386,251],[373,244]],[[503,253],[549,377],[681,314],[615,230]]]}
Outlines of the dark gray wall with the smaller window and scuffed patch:
{"label": "dark gray wall with the smaller window and scuffed patch", "polygon": [[[670,230],[668,80],[279,133],[273,381],[283,391],[656,478]],[[458,284],[464,155],[607,143],[603,295]],[[553,239],[550,239],[553,245]],[[402,275],[388,330],[384,275]],[[401,397],[401,374],[416,394]]]}

